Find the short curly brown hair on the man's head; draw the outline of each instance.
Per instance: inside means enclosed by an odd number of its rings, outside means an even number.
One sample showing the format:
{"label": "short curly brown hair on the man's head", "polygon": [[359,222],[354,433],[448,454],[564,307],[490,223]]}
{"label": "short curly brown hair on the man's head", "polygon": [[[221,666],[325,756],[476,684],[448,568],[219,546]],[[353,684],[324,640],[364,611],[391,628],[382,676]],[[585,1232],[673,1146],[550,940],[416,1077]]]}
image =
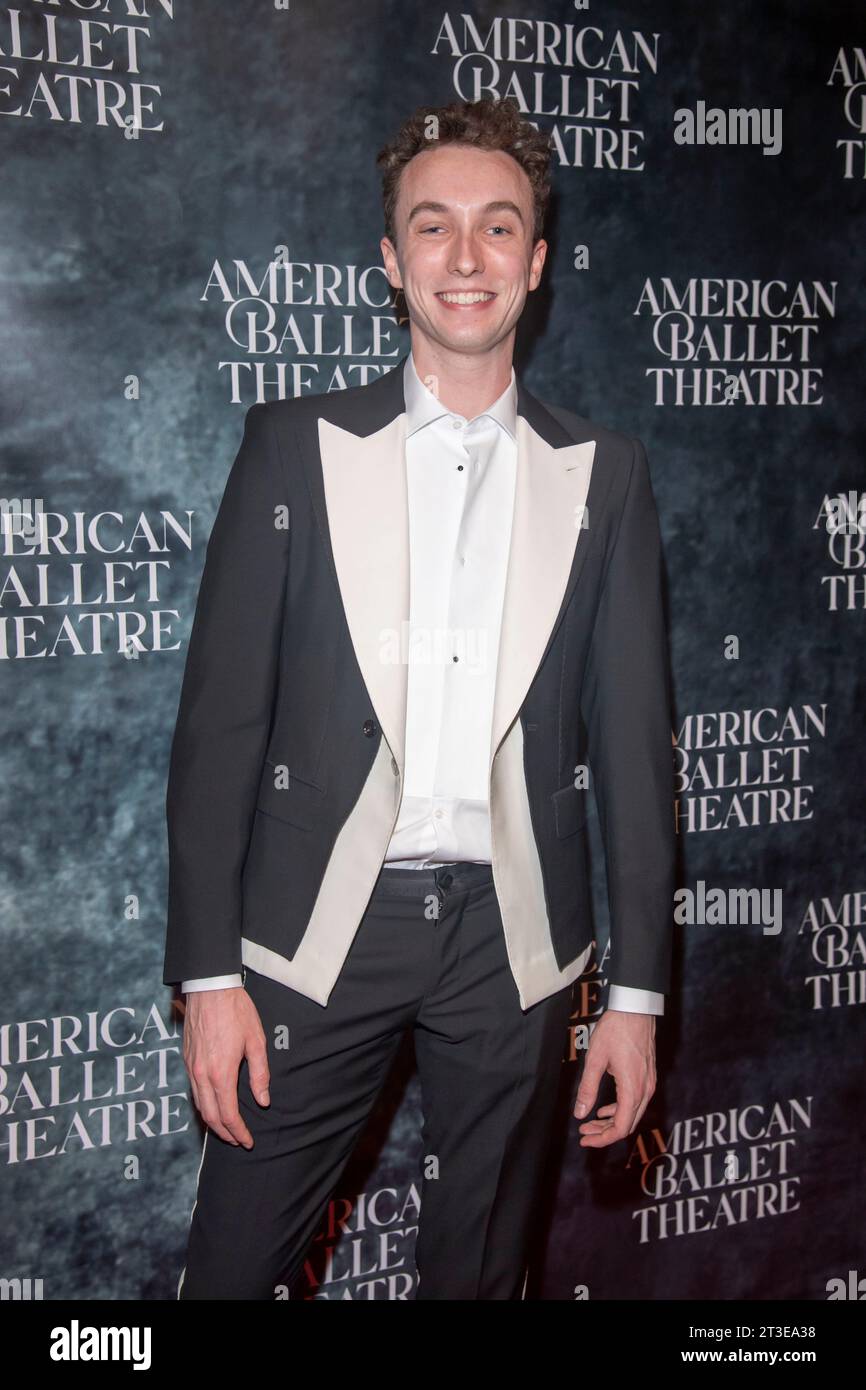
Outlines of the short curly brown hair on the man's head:
{"label": "short curly brown hair on the man's head", "polygon": [[541,238],[550,200],[550,136],[525,121],[512,97],[484,97],[481,101],[417,107],[391,145],[385,145],[377,154],[375,163],[382,175],[385,235],[395,246],[400,174],[416,154],[432,149],[435,143],[502,150],[517,160],[532,188],[532,242]]}

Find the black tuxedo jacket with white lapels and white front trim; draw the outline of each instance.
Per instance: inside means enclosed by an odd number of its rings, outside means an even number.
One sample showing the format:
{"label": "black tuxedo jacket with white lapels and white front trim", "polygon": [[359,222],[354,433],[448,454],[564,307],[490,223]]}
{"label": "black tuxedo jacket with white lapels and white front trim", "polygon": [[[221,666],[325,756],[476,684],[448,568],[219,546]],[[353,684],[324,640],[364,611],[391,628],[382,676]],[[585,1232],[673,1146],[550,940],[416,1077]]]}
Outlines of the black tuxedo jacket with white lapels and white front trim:
{"label": "black tuxedo jacket with white lapels and white front trim", "polygon": [[[384,655],[410,616],[403,366],[246,413],[171,745],[165,983],[249,966],[327,1005],[384,865],[405,773],[407,666]],[[676,831],[646,453],[517,375],[489,815],[523,1009],[575,979],[594,937],[592,794],[607,977],[664,992]]]}

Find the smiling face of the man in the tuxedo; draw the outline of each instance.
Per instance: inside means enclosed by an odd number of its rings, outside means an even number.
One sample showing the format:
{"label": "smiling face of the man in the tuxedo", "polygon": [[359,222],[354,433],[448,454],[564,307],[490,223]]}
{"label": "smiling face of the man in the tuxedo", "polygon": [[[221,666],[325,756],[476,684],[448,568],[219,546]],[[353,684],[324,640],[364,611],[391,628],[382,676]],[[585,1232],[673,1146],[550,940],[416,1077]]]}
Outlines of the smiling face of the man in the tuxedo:
{"label": "smiling face of the man in the tuxedo", "polygon": [[532,243],[532,189],[510,154],[434,142],[403,170],[395,227],[382,259],[414,329],[463,354],[513,334],[548,247]]}

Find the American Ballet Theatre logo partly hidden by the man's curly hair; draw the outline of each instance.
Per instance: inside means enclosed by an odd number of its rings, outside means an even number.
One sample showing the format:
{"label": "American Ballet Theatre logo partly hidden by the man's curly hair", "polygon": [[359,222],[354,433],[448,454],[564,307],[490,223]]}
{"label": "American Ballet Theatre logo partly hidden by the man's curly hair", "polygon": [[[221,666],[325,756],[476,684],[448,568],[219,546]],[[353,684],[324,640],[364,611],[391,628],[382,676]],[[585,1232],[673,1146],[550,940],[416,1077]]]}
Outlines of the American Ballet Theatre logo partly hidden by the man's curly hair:
{"label": "American Ballet Theatre logo partly hidden by the man's curly hair", "polygon": [[[659,33],[446,10],[430,51],[463,101],[513,97],[549,131],[563,168],[641,172],[641,83],[659,71]],[[537,120],[538,118],[538,120]]]}

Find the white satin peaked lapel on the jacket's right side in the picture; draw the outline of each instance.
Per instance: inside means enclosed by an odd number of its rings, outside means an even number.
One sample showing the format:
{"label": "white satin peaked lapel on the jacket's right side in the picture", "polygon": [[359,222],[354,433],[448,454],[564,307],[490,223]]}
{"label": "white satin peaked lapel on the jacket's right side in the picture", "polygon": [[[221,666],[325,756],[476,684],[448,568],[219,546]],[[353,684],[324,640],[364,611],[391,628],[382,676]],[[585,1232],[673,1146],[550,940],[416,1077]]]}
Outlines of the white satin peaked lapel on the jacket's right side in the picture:
{"label": "white satin peaked lapel on the jacket's right side in the picture", "polygon": [[[532,682],[571,573],[595,439],[553,449],[517,416],[512,548],[496,667],[491,762]],[[582,542],[585,543],[585,541]]]}

